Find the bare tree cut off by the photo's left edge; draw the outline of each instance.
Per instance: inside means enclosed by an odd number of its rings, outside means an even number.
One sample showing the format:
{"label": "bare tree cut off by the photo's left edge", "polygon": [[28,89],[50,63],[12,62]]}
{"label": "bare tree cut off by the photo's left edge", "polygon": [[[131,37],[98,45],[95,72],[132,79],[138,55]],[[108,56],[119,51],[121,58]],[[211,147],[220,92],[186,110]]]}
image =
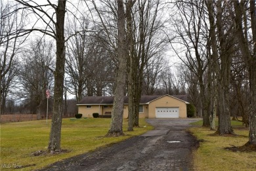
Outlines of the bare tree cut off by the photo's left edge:
{"label": "bare tree cut off by the photo's left edge", "polygon": [[[15,60],[15,56],[23,43],[18,39],[20,31],[16,30],[22,29],[24,22],[18,16],[18,12],[12,10],[16,10],[13,4],[0,1],[0,114],[3,113],[6,98],[18,69],[18,60]],[[11,34],[13,31],[15,33]]]}

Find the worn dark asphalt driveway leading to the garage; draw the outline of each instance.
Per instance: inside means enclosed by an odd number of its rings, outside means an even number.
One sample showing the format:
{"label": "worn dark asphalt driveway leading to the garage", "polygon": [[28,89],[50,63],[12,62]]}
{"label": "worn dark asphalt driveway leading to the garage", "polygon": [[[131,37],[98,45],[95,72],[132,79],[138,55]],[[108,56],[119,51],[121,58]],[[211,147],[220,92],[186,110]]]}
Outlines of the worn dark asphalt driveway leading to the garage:
{"label": "worn dark asphalt driveway leading to the garage", "polygon": [[155,130],[42,170],[192,170],[198,140],[186,129],[200,119],[147,119]]}

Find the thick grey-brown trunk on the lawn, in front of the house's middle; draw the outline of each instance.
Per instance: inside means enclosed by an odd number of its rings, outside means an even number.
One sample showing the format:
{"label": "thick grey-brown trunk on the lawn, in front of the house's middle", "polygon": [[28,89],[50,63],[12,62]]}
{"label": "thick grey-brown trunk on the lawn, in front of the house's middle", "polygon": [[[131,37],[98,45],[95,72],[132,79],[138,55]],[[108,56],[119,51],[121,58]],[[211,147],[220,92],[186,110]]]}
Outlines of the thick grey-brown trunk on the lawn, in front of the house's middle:
{"label": "thick grey-brown trunk on the lawn, in front of the house's middle", "polygon": [[117,0],[117,56],[118,69],[110,130],[106,136],[123,136],[123,100],[125,94],[127,47],[125,41],[125,11],[123,1]]}

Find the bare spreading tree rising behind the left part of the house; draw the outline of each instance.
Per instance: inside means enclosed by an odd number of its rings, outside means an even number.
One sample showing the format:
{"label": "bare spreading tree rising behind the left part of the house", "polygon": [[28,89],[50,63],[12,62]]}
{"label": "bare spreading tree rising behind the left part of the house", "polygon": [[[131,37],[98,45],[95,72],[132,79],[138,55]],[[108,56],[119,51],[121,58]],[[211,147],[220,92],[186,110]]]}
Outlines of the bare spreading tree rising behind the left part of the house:
{"label": "bare spreading tree rising behind the left part of the house", "polygon": [[106,50],[100,33],[75,35],[68,43],[66,73],[69,92],[77,102],[83,96],[102,96],[104,89],[114,81],[112,58]]}

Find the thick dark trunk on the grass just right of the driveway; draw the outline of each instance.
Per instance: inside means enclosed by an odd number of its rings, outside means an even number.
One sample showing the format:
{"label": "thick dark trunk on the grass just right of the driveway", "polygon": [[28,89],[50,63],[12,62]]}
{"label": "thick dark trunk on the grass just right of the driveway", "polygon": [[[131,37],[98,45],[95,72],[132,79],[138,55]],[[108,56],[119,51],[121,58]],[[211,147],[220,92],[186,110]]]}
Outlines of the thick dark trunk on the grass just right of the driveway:
{"label": "thick dark trunk on the grass just right of the driveway", "polygon": [[218,79],[218,92],[219,92],[219,125],[217,134],[233,134],[233,130],[230,122],[230,110],[229,110],[229,85],[230,85],[230,69],[231,69],[231,52],[232,49],[228,35],[224,33],[223,23],[223,9],[227,7],[222,6],[221,1],[217,1],[217,36],[219,38],[219,54],[220,54],[220,65],[217,71]]}

